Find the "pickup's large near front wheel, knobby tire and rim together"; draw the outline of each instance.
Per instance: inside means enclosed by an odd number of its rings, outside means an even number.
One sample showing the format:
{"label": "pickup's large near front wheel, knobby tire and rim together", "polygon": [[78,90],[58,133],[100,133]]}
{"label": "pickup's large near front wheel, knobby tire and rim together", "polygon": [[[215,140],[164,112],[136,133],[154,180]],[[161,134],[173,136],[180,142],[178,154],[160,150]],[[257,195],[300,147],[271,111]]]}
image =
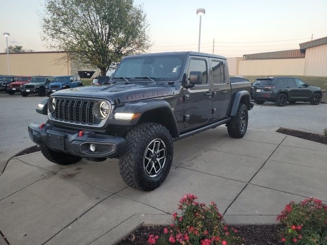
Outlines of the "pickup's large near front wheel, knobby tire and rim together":
{"label": "pickup's large near front wheel, knobby tire and rim together", "polygon": [[119,157],[120,174],[130,187],[150,191],[165,181],[173,162],[173,140],[160,124],[143,123],[126,136],[126,151]]}

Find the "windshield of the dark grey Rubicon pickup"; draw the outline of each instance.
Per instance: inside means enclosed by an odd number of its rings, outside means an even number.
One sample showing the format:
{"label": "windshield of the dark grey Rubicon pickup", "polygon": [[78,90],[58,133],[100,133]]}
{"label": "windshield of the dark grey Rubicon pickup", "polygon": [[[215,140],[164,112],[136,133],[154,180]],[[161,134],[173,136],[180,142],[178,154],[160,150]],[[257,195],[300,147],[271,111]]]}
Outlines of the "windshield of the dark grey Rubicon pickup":
{"label": "windshield of the dark grey Rubicon pickup", "polygon": [[144,56],[123,59],[112,75],[115,78],[150,77],[157,81],[175,81],[179,78],[184,56]]}

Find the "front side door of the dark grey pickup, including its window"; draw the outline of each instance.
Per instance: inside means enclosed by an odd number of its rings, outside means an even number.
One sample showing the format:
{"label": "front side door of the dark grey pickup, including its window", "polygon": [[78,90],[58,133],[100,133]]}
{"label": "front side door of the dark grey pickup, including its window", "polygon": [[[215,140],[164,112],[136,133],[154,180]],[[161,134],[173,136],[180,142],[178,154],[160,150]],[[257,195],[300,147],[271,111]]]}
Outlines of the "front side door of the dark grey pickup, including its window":
{"label": "front side door of the dark grey pickup, including its window", "polygon": [[212,90],[208,80],[208,60],[191,58],[186,75],[190,83],[190,71],[201,71],[202,83],[193,88],[184,88],[184,127],[201,125],[211,118]]}

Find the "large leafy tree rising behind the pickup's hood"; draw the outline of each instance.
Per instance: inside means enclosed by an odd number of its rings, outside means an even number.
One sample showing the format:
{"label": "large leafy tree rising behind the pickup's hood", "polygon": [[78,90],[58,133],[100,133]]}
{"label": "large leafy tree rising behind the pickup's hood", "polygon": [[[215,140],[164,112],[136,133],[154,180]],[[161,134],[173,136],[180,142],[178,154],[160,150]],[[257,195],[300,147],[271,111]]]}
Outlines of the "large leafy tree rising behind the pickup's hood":
{"label": "large leafy tree rising behind the pickup's hood", "polygon": [[146,14],[133,0],[46,0],[44,10],[47,46],[67,52],[64,61],[98,67],[102,76],[151,45]]}

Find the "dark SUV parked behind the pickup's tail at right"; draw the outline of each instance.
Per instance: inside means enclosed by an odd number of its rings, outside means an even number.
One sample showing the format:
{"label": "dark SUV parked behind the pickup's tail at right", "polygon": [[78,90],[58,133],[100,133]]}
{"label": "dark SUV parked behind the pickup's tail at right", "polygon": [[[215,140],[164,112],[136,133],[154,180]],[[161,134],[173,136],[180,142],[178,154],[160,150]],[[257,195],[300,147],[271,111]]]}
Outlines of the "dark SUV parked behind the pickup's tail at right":
{"label": "dark SUV parked behind the pickup's tail at right", "polygon": [[287,102],[310,102],[319,105],[321,89],[310,86],[301,79],[293,77],[258,78],[252,85],[254,92],[251,99],[262,105],[265,101],[275,102],[277,106],[285,106]]}

